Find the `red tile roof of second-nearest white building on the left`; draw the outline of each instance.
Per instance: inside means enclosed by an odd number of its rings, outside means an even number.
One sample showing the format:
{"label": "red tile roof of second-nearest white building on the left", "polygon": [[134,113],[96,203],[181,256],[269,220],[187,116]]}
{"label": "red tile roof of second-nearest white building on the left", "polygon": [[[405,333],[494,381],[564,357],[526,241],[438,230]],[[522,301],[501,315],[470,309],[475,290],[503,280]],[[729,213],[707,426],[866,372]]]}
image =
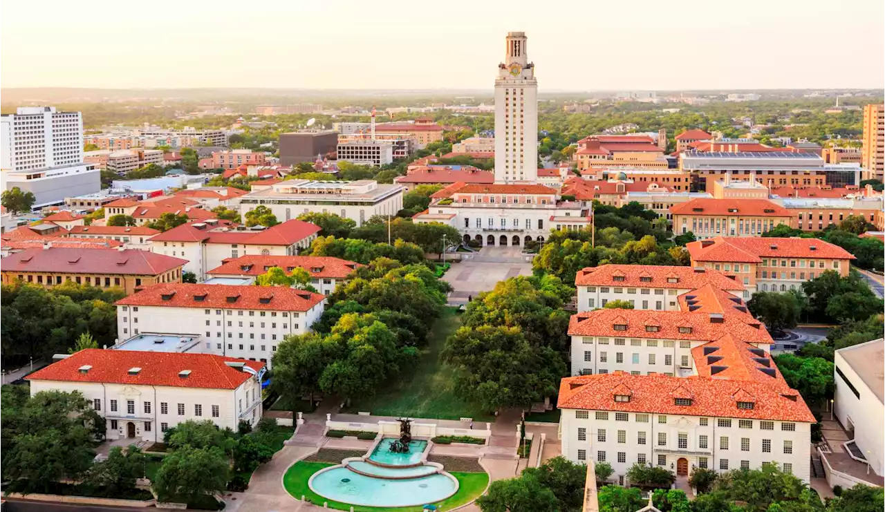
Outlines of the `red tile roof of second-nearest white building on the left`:
{"label": "red tile roof of second-nearest white building on the left", "polygon": [[307,311],[325,300],[326,295],[290,287],[160,283],[114,303],[118,306]]}

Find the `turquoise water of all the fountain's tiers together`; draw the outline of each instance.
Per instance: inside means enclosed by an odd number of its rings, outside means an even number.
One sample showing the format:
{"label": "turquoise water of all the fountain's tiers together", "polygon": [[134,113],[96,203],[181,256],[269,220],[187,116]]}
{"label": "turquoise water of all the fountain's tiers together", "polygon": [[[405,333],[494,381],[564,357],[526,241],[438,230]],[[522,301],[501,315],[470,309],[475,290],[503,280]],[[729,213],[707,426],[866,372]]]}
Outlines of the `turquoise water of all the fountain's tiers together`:
{"label": "turquoise water of all the fountain's tiers together", "polygon": [[391,451],[396,439],[384,438],[372,453],[344,459],[319,470],[308,481],[329,500],[364,507],[411,507],[442,501],[458,491],[458,479],[434,462],[422,462],[427,441],[412,440],[409,453]]}

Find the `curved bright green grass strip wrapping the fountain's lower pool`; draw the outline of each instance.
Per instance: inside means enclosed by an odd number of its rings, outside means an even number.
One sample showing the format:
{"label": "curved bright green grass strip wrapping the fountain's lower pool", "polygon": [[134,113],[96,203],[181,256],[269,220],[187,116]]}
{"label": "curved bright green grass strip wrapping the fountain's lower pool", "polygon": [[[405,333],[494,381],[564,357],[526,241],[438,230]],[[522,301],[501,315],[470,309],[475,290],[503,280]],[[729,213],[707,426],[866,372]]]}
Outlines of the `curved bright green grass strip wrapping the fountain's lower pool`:
{"label": "curved bright green grass strip wrapping the fountain's lower pool", "polygon": [[[286,471],[282,478],[283,486],[289,491],[289,494],[300,500],[304,495],[309,501],[319,506],[324,502],[328,502],[329,508],[337,510],[350,510],[350,504],[338,501],[329,501],[317,493],[311,491],[307,486],[307,481],[313,473],[316,473],[328,466],[335,464],[327,462],[296,462]],[[460,473],[451,471],[451,476],[458,478],[458,493],[455,493],[447,500],[437,501],[435,505],[443,510],[460,507],[466,503],[475,500],[489,485],[489,475],[486,473]],[[421,507],[396,507],[396,508],[380,508],[380,507],[360,507],[354,506],[354,512],[421,512]]]}

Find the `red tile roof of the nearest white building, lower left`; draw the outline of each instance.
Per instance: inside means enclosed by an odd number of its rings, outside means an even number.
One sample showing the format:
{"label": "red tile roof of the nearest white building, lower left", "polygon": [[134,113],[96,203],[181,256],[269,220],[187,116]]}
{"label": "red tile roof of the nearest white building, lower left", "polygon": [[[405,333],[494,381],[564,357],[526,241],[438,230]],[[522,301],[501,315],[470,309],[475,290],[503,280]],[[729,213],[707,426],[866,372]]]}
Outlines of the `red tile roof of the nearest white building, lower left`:
{"label": "red tile roof of the nearest white building, lower left", "polygon": [[[254,376],[250,371],[228,366],[227,362],[243,363],[256,373],[265,366],[257,361],[212,354],[87,348],[35,371],[27,380],[236,389]],[[80,370],[83,366],[91,368],[84,373]],[[133,368],[141,371],[130,375]],[[190,371],[188,377],[181,377],[181,371],[186,370]]]}

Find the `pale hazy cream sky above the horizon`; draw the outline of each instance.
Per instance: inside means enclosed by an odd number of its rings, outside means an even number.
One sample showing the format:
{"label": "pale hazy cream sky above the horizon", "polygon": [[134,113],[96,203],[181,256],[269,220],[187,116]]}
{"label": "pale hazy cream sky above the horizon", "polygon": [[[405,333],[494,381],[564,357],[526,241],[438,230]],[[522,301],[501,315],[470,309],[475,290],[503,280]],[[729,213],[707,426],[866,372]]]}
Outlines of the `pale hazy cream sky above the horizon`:
{"label": "pale hazy cream sky above the horizon", "polygon": [[[0,0],[0,88],[885,88],[881,0]],[[2,96],[2,92],[0,92]],[[0,98],[2,99],[2,98]]]}

